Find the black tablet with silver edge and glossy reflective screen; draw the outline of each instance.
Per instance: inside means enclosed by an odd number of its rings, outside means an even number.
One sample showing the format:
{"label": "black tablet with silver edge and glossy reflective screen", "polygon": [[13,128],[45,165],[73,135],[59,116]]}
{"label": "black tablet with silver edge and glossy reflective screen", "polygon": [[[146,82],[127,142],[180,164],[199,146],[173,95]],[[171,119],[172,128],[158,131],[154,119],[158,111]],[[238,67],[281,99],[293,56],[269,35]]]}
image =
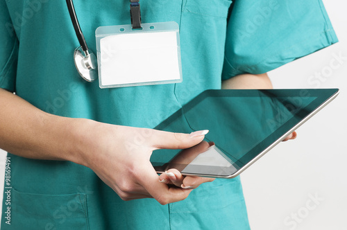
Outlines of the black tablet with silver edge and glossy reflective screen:
{"label": "black tablet with silver edge and glossy reflective screen", "polygon": [[210,130],[205,140],[185,150],[155,150],[151,163],[158,173],[177,168],[183,175],[236,177],[337,94],[339,89],[203,91],[155,129]]}

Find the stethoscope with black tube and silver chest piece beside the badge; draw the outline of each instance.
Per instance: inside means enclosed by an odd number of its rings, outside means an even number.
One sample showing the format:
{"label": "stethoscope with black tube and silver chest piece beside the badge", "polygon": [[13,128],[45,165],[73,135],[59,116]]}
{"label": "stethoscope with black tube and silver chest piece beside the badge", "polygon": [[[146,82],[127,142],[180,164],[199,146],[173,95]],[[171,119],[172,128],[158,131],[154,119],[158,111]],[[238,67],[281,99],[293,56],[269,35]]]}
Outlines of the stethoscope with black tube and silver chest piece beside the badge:
{"label": "stethoscope with black tube and silver chest piece beside the badge", "polygon": [[84,80],[93,82],[98,78],[96,56],[88,49],[87,42],[85,42],[85,36],[82,33],[80,24],[78,23],[74,3],[72,3],[72,0],[67,0],[66,2],[78,42],[80,43],[80,46],[78,46],[74,51],[76,69]]}

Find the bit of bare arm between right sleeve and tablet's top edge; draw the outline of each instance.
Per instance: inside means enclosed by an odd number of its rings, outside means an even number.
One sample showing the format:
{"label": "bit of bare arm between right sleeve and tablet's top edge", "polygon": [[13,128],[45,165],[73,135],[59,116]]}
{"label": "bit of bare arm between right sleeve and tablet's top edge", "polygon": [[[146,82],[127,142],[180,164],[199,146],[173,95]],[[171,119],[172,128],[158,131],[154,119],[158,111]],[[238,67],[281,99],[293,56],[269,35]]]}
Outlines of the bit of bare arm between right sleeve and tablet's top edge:
{"label": "bit of bare arm between right sleeve and tablet's top edge", "polygon": [[272,89],[269,76],[263,74],[241,74],[221,84],[222,89]]}

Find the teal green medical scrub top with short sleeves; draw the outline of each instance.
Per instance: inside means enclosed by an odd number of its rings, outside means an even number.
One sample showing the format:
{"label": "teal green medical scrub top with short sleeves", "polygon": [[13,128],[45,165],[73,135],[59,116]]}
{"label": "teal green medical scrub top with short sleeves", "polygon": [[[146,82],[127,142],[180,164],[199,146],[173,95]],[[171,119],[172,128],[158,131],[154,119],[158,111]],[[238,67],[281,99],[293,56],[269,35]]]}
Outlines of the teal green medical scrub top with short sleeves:
{"label": "teal green medical scrub top with short sleeves", "polygon": [[[220,89],[222,79],[264,73],[337,42],[320,0],[140,3],[143,23],[179,24],[182,83],[100,89],[75,69],[79,44],[65,1],[0,0],[0,87],[51,114],[151,128],[201,91]],[[74,4],[94,53],[97,27],[130,24],[129,1]],[[216,179],[162,206],[124,202],[76,163],[8,157],[12,188],[1,229],[249,229],[239,177]]]}

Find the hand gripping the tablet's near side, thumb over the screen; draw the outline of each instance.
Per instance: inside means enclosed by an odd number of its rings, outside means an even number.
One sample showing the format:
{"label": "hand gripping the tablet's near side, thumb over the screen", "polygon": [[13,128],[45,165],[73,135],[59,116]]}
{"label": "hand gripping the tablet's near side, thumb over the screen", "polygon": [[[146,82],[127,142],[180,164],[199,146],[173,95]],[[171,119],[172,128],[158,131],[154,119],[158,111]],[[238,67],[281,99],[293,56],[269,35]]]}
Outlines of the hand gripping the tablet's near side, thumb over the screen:
{"label": "hand gripping the tablet's near side, thumb over the screen", "polygon": [[[88,130],[92,130],[92,136]],[[205,132],[189,135],[105,123],[92,123],[88,130],[83,132],[87,142],[82,164],[91,168],[122,200],[148,197],[169,204],[184,200],[192,191],[160,183],[149,159],[153,150],[160,148],[190,148],[203,141]]]}

